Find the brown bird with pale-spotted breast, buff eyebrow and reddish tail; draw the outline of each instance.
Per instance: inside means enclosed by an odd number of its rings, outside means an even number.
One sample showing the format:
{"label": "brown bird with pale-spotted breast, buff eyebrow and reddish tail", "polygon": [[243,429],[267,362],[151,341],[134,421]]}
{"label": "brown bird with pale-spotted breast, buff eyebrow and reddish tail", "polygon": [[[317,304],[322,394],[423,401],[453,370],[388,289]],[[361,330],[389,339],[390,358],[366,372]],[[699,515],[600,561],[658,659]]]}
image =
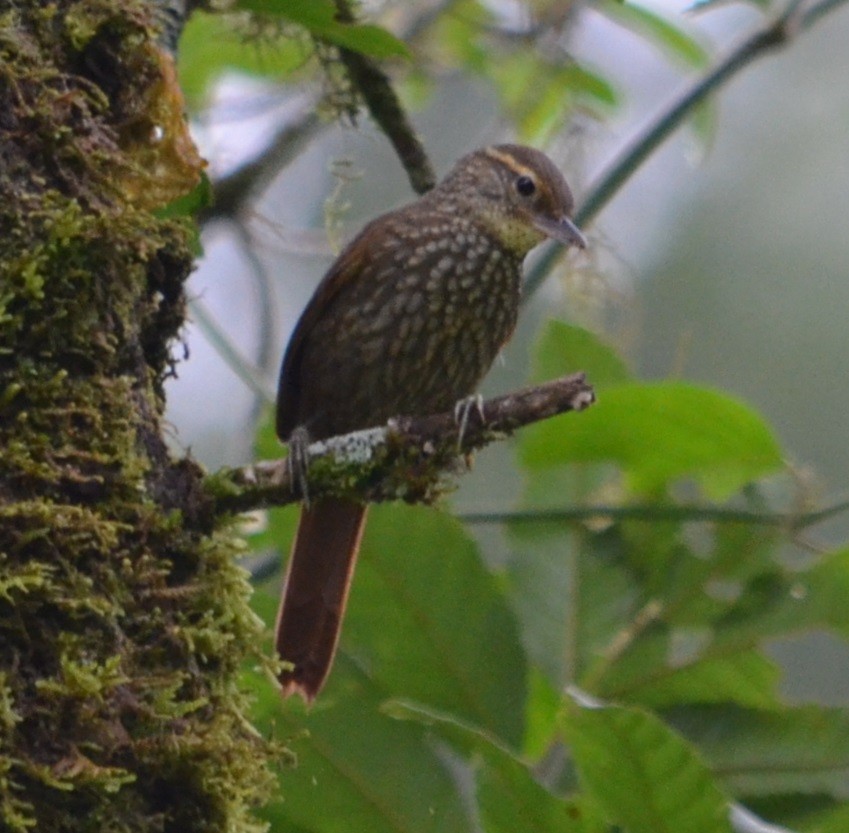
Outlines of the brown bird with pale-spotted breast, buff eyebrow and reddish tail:
{"label": "brown bird with pale-spotted breast, buff eyebrow and reddish tail", "polygon": [[[448,411],[475,394],[516,325],[527,253],[547,238],[586,247],[573,209],[547,155],[495,144],[369,222],[286,348],[276,429],[290,454],[296,443]],[[330,672],[366,511],[340,497],[301,508],[275,628],[284,696],[311,703]]]}

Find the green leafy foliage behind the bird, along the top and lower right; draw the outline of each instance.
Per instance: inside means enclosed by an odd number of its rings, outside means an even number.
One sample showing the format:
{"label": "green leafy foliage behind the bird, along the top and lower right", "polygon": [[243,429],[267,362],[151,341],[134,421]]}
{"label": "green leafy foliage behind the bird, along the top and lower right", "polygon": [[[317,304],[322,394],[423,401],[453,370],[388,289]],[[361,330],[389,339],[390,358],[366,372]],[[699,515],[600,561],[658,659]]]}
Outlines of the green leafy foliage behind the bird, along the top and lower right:
{"label": "green leafy foliage behind the bird, along the top and lower right", "polygon": [[[350,113],[333,45],[391,59],[413,104],[446,74],[476,76],[537,145],[622,104],[603,68],[557,46],[580,11],[568,5],[538,3],[517,21],[496,3],[420,16],[388,4],[397,37],[335,22],[329,0],[236,5],[253,16],[198,13],[184,35],[196,107],[240,70],[320,86],[327,112]],[[594,9],[710,71],[680,19]],[[690,125],[706,141],[713,123],[703,104]],[[849,546],[807,539],[845,505],[813,505],[745,402],[636,378],[603,328],[546,321],[532,365],[536,380],[585,370],[599,402],[516,437],[502,476],[524,484],[517,505],[465,522],[447,507],[374,507],[315,707],[281,704],[246,671],[260,725],[297,758],[282,762],[273,829],[719,833],[757,829],[753,811],[845,830],[849,710],[785,702],[768,650],[812,629],[849,640]],[[266,411],[256,445],[279,456]],[[294,519],[270,513],[253,548],[279,553]],[[279,582],[276,570],[256,592],[269,623]]]}

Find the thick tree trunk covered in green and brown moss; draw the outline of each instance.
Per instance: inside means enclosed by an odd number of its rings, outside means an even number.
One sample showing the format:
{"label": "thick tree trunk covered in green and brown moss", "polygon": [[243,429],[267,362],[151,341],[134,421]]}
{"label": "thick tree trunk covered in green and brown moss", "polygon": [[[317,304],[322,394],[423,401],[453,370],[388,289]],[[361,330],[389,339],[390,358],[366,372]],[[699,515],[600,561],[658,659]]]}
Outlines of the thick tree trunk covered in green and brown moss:
{"label": "thick tree trunk covered in green and brown moss", "polygon": [[244,831],[233,544],[162,438],[191,230],[156,4],[0,0],[0,829]]}

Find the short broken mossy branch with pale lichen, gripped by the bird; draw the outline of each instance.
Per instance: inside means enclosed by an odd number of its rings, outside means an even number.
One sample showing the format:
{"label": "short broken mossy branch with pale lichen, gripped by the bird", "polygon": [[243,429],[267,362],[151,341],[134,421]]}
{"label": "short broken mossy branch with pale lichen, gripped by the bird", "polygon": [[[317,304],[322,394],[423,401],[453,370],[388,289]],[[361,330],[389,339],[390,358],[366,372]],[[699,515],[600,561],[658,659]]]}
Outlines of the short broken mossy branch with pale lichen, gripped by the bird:
{"label": "short broken mossy branch with pale lichen, gripped by the bird", "polygon": [[[307,449],[311,497],[338,494],[358,500],[430,502],[445,491],[445,474],[458,458],[503,439],[516,428],[582,411],[595,394],[582,373],[472,404],[461,431],[454,412],[398,417],[383,427],[313,443]],[[481,417],[483,419],[481,419]],[[287,459],[222,470],[207,478],[216,514],[284,506],[301,499]]]}

